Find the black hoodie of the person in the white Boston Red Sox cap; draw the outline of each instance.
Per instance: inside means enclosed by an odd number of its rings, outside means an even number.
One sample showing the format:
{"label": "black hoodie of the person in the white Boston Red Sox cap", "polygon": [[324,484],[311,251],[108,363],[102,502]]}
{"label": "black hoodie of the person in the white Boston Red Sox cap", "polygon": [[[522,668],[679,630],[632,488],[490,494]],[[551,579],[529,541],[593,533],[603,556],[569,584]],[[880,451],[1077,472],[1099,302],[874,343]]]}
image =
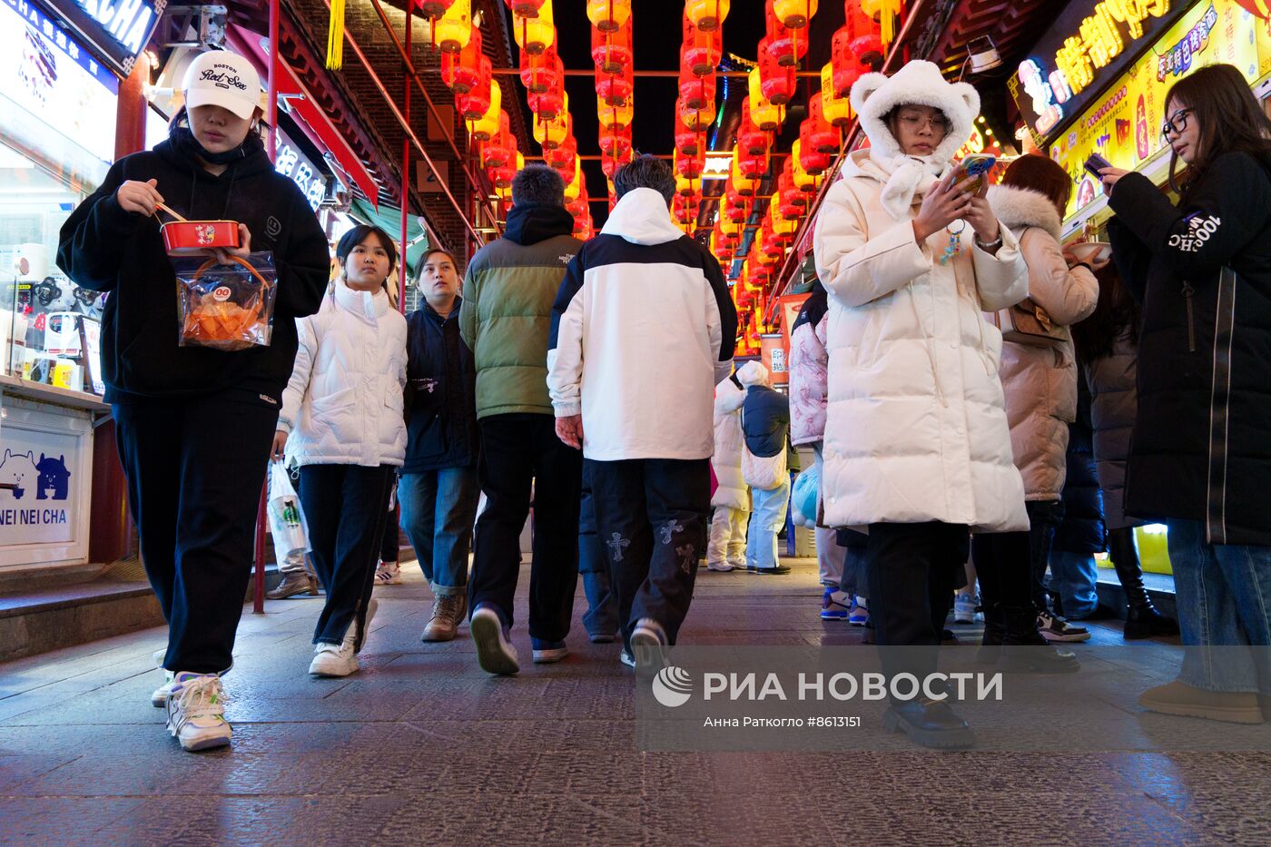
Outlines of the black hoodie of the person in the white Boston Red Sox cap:
{"label": "black hoodie of the person in the white Boston Red Sox cap", "polygon": [[[296,357],[296,318],[322,305],[330,273],[327,235],[309,201],[273,169],[263,145],[220,176],[170,141],[116,162],[102,186],[62,225],[57,265],[78,285],[108,291],[102,314],[105,399],[192,396],[236,387],[277,401]],[[175,272],[154,217],[123,211],[114,192],[158,179],[159,193],[189,220],[236,220],[252,251],[272,251],[278,272],[268,347],[225,352],[180,347]]]}

